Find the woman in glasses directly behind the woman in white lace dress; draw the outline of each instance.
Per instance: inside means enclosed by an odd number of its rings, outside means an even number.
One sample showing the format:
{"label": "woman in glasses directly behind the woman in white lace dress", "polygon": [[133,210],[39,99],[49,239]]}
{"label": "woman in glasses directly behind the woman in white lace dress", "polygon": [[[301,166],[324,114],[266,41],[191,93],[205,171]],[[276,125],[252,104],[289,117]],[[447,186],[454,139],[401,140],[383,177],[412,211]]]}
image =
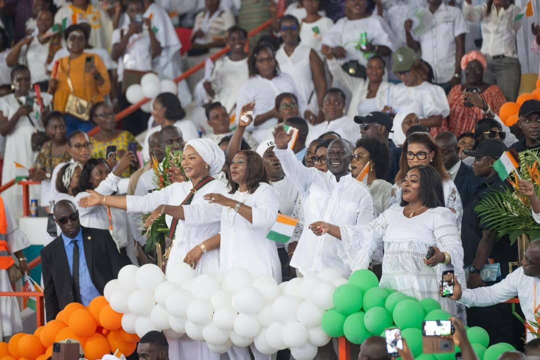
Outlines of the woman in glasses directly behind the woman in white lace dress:
{"label": "woman in glasses directly behind the woman in white lace dress", "polygon": [[403,143],[400,158],[400,171],[396,175],[393,196],[390,203],[399,202],[401,199],[402,183],[409,172],[409,168],[416,165],[433,166],[442,179],[444,206],[454,214],[455,224],[458,234],[461,233],[461,217],[463,215],[463,204],[460,193],[454,181],[444,168],[441,148],[437,146],[433,137],[428,133],[415,132],[409,135]]}

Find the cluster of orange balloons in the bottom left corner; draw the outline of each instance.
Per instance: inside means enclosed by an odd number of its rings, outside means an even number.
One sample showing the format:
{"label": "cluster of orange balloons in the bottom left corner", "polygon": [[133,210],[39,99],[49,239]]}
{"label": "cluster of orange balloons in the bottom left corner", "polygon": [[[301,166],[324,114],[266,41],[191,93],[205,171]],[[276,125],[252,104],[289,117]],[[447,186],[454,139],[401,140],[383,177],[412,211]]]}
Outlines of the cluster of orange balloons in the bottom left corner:
{"label": "cluster of orange balloons in the bottom left corner", "polygon": [[65,339],[77,340],[88,360],[116,350],[131,355],[139,341],[137,335],[122,329],[122,314],[112,310],[104,296],[98,296],[86,308],[79,303],[66,305],[55,320],[33,334],[19,332],[9,343],[0,342],[0,360],[45,360],[52,356],[52,344]]}

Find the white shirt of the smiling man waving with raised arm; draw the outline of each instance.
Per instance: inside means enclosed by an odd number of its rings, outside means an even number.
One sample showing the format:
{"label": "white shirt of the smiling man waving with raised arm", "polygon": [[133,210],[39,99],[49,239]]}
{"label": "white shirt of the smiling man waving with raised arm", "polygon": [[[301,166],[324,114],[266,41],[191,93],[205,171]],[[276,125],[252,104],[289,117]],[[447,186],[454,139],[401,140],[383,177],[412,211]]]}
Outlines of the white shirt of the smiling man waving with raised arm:
{"label": "white shirt of the smiling man waving with raised arm", "polygon": [[[304,224],[326,221],[338,225],[363,225],[373,219],[373,200],[366,185],[342,176],[323,173],[315,168],[303,166],[292,150],[274,149],[285,175],[296,186],[304,210]],[[335,237],[325,234],[316,236],[311,229],[304,228],[291,260],[291,266],[300,273],[336,268],[348,277],[351,270],[338,256],[343,244]]]}

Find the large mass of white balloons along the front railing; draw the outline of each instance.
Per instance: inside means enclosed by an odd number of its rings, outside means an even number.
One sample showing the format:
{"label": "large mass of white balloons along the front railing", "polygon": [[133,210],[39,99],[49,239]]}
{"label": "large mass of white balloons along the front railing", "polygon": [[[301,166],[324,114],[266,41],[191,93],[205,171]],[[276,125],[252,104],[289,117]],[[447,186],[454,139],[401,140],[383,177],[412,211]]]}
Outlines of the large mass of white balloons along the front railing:
{"label": "large mass of white balloons along the front railing", "polygon": [[165,276],[146,264],[122,268],[104,294],[114,311],[124,313],[122,328],[129,334],[186,334],[218,354],[252,343],[263,354],[291,348],[296,360],[311,360],[330,341],[321,318],[333,306],[336,286],[346,282],[335,269],[278,285],[242,268],[198,275],[185,263],[171,263]]}

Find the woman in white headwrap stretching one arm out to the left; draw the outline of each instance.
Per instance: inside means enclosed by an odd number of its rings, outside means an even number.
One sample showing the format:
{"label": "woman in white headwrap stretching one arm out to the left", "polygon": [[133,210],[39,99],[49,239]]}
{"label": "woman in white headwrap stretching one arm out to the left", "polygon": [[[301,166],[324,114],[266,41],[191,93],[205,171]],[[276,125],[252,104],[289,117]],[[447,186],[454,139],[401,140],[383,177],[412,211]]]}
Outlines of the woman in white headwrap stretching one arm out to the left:
{"label": "woman in white headwrap stretching one arm out to the left", "polygon": [[[129,213],[153,211],[149,223],[166,213],[165,221],[169,227],[173,217],[168,213],[170,208],[174,208],[175,218],[179,220],[167,263],[186,262],[199,274],[215,274],[219,271],[219,250],[213,249],[207,239],[219,232],[221,206],[208,205],[203,196],[225,192],[226,185],[215,180],[207,182],[194,193],[189,205],[179,205],[190,197],[192,190],[198,187],[201,181],[221,171],[225,164],[225,154],[211,140],[195,139],[186,143],[183,157],[182,167],[190,181],[173,182],[170,186],[144,196],[103,196],[89,191],[90,196],[81,199],[79,206],[106,203],[111,207],[126,209]],[[214,218],[211,218],[210,214],[215,214]],[[187,336],[181,339],[168,338],[167,341],[171,360],[219,360],[219,355],[210,352],[204,342],[194,341]]]}

